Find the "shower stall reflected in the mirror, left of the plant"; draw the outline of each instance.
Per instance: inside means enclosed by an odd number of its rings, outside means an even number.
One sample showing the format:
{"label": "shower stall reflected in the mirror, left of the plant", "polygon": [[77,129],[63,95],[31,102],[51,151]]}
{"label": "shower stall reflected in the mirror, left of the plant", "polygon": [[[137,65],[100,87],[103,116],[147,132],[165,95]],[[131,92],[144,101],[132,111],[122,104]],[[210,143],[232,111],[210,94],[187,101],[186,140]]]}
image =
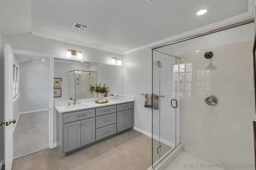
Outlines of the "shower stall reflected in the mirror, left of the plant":
{"label": "shower stall reflected in the mirror, left of the plant", "polygon": [[88,99],[94,94],[89,92],[90,85],[97,84],[98,72],[72,70],[68,72],[68,98]]}

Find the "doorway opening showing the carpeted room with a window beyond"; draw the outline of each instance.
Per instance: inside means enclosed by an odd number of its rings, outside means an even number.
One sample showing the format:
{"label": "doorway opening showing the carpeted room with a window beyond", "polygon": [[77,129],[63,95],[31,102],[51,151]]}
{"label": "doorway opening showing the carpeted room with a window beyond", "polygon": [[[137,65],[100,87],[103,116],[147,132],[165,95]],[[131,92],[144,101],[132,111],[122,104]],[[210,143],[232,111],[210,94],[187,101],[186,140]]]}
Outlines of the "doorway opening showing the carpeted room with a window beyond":
{"label": "doorway opening showing the carpeted room with a window beyond", "polygon": [[14,159],[49,148],[49,58],[14,54]]}

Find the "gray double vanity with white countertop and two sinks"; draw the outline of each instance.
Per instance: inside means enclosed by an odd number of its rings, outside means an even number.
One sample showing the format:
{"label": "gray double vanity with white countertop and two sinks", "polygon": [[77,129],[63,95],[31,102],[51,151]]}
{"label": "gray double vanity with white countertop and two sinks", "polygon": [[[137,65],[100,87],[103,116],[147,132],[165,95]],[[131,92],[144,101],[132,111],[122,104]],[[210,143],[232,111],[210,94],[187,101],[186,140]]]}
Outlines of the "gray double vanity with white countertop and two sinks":
{"label": "gray double vanity with white countertop and two sinks", "polygon": [[[108,98],[111,99],[107,97],[106,100]],[[80,104],[70,106],[66,102],[55,103],[57,147],[62,158],[70,152],[133,129],[134,97],[122,96],[105,104],[96,104],[94,100],[79,100]]]}

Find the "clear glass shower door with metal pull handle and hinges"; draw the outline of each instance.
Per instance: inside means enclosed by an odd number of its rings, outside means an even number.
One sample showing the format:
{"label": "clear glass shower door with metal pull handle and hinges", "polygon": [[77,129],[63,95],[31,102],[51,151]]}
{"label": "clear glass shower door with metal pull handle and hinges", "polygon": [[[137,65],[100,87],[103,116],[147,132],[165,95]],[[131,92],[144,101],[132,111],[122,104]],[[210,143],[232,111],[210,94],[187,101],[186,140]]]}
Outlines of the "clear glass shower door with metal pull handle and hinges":
{"label": "clear glass shower door with metal pull handle and hinges", "polygon": [[180,59],[153,50],[152,54],[152,165],[180,143]]}

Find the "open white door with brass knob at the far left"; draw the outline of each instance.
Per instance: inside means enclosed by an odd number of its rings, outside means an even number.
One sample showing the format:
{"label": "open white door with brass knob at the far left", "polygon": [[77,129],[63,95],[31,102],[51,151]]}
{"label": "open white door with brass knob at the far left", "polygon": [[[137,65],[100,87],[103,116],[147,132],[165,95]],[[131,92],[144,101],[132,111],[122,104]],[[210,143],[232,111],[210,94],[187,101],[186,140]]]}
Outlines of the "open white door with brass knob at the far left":
{"label": "open white door with brass knob at the far left", "polygon": [[5,116],[5,169],[12,169],[13,162],[13,52],[9,44],[4,48],[4,116]]}

